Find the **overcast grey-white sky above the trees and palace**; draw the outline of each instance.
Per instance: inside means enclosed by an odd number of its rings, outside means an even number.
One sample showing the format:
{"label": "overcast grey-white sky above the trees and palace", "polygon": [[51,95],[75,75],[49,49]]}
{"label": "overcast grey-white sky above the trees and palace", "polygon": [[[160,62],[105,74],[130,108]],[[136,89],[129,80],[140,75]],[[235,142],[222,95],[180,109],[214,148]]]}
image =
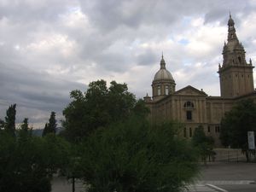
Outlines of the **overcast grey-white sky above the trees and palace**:
{"label": "overcast grey-white sky above the trees and palace", "polygon": [[61,119],[69,92],[97,79],[151,95],[162,52],[177,90],[219,96],[230,11],[255,65],[253,0],[0,0],[0,118],[17,103],[17,123]]}

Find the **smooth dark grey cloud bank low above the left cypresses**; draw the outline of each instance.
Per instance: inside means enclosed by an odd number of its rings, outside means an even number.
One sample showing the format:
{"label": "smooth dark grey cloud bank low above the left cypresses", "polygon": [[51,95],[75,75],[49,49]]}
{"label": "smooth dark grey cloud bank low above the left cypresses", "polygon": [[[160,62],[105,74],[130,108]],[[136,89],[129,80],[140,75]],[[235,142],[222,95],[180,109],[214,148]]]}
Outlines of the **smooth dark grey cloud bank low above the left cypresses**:
{"label": "smooth dark grey cloud bank low above the left cypresses", "polygon": [[50,111],[55,111],[61,118],[62,110],[70,102],[69,92],[86,88],[85,84],[55,79],[47,73],[38,73],[26,67],[6,66],[3,63],[0,66],[0,114],[3,118],[9,105],[16,103],[17,110],[23,108],[22,113],[17,113],[17,123],[24,117],[28,117],[32,123],[38,123],[33,121],[38,119],[31,119],[35,110],[42,113],[40,120],[49,118],[47,115]]}

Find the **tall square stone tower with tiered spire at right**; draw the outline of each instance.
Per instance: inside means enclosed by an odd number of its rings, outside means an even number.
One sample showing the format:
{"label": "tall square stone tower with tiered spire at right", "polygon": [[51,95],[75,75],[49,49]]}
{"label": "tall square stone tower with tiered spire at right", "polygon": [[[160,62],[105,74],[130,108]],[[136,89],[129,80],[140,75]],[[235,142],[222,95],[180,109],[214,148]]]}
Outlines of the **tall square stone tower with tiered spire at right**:
{"label": "tall square stone tower with tiered spire at right", "polygon": [[253,64],[246,61],[243,46],[236,37],[235,22],[228,22],[228,43],[224,43],[223,65],[218,66],[220,94],[222,97],[236,97],[250,93],[253,87]]}

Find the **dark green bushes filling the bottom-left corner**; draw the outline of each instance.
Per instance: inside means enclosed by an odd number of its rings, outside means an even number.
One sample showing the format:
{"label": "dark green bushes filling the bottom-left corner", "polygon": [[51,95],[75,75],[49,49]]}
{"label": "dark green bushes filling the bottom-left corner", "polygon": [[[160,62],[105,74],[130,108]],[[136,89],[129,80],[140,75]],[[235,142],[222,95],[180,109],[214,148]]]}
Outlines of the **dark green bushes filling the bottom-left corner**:
{"label": "dark green bushes filling the bottom-left corner", "polygon": [[50,191],[52,174],[67,164],[68,143],[51,134],[42,138],[17,132],[17,137],[0,133],[0,191]]}

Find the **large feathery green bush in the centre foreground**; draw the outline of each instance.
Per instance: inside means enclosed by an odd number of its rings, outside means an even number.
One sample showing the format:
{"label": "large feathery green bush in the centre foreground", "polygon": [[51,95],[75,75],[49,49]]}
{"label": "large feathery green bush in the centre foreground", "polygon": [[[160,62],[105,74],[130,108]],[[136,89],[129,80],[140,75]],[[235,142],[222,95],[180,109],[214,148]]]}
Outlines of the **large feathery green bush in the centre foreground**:
{"label": "large feathery green bush in the centre foreground", "polygon": [[91,192],[177,192],[198,172],[197,156],[177,123],[141,118],[97,129],[81,144],[79,168]]}

